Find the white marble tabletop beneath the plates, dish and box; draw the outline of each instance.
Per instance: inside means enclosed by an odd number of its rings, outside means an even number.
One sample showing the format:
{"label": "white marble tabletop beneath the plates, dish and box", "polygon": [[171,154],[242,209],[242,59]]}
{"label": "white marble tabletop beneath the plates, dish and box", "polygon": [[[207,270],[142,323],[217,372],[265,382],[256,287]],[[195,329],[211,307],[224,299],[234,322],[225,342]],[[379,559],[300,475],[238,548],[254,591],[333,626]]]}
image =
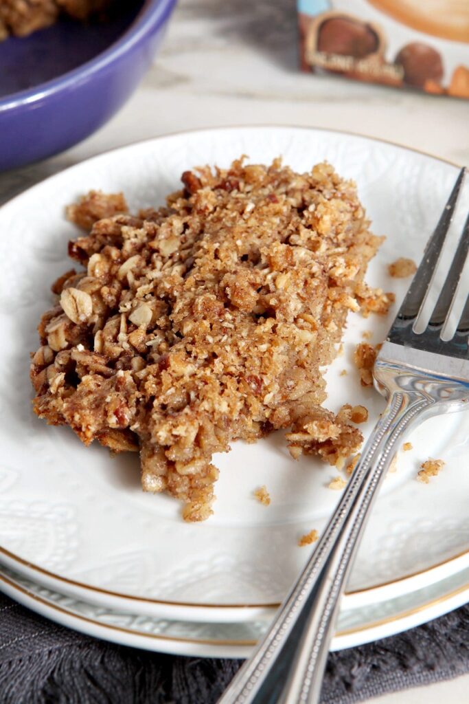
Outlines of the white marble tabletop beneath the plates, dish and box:
{"label": "white marble tabletop beneath the plates, dish and box", "polygon": [[[0,200],[115,146],[241,124],[330,127],[469,163],[469,101],[299,73],[294,0],[180,0],[162,51],[122,111],[62,155],[0,176]],[[469,676],[370,704],[467,704],[468,690]]]}

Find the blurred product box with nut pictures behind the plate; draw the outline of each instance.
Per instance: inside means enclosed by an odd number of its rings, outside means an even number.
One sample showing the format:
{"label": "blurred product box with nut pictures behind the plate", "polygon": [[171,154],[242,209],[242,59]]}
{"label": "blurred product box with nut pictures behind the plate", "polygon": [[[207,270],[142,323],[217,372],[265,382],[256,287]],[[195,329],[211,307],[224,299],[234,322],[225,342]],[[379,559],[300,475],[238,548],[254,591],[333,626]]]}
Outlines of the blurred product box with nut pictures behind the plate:
{"label": "blurred product box with nut pictures behind the plate", "polygon": [[469,0],[297,0],[304,71],[469,98]]}

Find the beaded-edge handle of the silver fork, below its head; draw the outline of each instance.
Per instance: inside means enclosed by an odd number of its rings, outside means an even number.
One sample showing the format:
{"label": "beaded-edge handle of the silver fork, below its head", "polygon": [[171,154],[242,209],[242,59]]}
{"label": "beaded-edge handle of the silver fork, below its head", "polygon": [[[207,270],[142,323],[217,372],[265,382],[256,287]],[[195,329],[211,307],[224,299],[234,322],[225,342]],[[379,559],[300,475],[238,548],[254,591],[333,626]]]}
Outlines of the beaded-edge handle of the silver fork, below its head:
{"label": "beaded-edge handle of the silver fork, below its head", "polygon": [[432,401],[393,391],[300,579],[219,704],[315,704],[352,560],[396,447]]}

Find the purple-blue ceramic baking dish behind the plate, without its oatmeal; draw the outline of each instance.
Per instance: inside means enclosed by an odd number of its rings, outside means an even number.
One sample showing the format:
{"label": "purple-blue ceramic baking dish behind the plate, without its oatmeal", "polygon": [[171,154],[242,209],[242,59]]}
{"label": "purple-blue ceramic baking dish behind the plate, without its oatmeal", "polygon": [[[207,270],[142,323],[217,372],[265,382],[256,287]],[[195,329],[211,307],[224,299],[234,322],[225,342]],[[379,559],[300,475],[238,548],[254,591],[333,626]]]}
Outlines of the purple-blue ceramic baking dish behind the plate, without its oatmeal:
{"label": "purple-blue ceramic baking dish behind the plate, without its oatmeal", "polygon": [[108,23],[61,20],[0,42],[0,170],[68,149],[109,120],[149,68],[175,4],[133,0]]}

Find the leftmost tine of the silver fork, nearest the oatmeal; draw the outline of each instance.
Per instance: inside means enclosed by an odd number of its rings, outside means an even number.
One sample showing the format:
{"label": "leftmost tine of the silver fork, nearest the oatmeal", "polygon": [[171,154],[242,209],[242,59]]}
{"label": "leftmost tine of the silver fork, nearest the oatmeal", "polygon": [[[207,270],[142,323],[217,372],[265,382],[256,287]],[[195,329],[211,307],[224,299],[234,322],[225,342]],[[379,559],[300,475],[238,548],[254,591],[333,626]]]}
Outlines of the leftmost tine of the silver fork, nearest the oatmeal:
{"label": "leftmost tine of the silver fork, nearest the oatmeal", "polygon": [[459,172],[448,202],[446,203],[442,215],[439,218],[435,232],[433,232],[432,237],[430,237],[430,240],[425,247],[422,261],[416,271],[416,275],[413,277],[413,281],[409,291],[407,291],[404,302],[402,303],[401,308],[399,308],[396,322],[397,320],[409,320],[411,318],[416,318],[420,308],[423,306],[439,262],[439,257],[442,253],[444,240],[449,230],[454,208],[456,207],[458,195],[463,184],[464,175],[465,168],[463,167]]}

